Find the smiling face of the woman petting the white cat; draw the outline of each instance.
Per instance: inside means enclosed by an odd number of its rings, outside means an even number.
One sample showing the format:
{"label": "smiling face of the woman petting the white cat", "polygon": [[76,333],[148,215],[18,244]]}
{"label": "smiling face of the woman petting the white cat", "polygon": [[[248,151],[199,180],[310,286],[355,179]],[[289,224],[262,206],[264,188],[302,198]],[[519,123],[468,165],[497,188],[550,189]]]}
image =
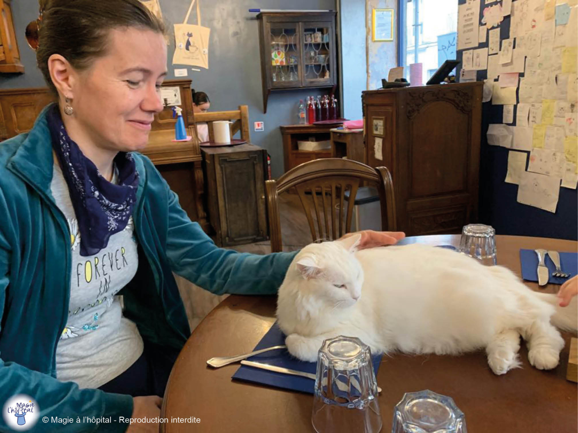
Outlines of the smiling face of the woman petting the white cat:
{"label": "smiling face of the woman petting the white cat", "polygon": [[77,72],[72,84],[72,121],[79,139],[111,151],[141,150],[154,114],[163,109],[165,75],[166,42],[160,33],[111,30],[106,54]]}

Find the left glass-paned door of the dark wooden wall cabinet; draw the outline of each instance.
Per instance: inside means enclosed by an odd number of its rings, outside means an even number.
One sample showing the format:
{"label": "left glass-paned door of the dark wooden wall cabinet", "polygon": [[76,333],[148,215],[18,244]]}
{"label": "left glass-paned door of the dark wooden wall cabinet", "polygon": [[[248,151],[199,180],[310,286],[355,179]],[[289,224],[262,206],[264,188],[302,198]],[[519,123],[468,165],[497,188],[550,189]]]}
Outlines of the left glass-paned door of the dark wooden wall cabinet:
{"label": "left glass-paned door of the dark wooden wall cabinet", "polygon": [[271,87],[299,87],[301,85],[301,53],[298,23],[269,23]]}

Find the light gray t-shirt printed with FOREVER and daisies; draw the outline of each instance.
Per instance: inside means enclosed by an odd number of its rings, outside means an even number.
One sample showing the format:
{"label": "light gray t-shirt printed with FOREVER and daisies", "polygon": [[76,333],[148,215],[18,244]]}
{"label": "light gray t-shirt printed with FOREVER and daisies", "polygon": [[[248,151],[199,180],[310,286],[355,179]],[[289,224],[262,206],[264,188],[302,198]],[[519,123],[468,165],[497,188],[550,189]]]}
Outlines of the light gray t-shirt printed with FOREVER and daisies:
{"label": "light gray t-shirt printed with FOREVER and daisies", "polygon": [[[113,177],[116,182],[116,175]],[[130,367],[143,352],[136,325],[123,317],[115,294],[136,274],[138,252],[132,217],[94,256],[80,255],[80,233],[68,185],[58,163],[50,184],[71,232],[72,275],[68,322],[56,349],[56,372],[62,382],[98,388]]]}

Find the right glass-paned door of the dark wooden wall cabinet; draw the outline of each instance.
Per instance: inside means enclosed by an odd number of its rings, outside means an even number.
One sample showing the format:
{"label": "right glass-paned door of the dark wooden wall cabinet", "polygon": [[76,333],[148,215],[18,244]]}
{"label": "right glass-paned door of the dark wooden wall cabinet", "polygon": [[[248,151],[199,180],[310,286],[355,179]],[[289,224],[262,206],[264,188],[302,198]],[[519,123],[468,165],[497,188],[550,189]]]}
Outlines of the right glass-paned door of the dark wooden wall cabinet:
{"label": "right glass-paned door of the dark wooden wall cabinet", "polygon": [[302,23],[303,85],[334,81],[335,57],[331,23]]}

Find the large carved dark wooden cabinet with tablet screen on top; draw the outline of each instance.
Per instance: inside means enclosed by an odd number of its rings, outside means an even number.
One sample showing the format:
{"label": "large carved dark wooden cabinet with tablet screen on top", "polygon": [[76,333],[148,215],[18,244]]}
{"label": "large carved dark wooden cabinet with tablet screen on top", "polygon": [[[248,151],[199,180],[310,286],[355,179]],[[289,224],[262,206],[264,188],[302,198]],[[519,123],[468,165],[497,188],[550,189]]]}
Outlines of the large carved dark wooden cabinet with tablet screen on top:
{"label": "large carved dark wooden cabinet with tablet screen on top", "polygon": [[460,233],[477,221],[483,83],[365,91],[368,165],[393,178],[398,229]]}

